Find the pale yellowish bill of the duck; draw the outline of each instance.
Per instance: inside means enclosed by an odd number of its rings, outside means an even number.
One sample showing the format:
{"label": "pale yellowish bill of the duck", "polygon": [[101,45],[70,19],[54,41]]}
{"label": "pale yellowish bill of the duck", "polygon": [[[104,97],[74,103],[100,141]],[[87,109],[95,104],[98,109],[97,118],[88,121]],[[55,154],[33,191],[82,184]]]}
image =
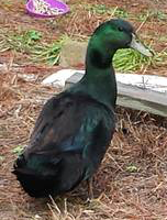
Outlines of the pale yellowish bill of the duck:
{"label": "pale yellowish bill of the duck", "polygon": [[136,37],[135,34],[132,35],[132,41],[131,41],[130,47],[138,51],[141,54],[143,54],[145,56],[151,57],[154,55],[154,53],[152,51],[149,51],[144,44],[142,44],[138,41],[138,38]]}

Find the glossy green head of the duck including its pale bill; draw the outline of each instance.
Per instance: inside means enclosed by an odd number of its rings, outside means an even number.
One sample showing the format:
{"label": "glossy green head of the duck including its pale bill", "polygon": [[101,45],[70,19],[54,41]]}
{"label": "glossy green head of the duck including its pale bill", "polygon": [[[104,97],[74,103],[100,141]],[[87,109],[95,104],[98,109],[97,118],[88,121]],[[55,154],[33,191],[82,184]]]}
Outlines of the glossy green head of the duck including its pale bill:
{"label": "glossy green head of the duck including its pale bill", "polygon": [[140,42],[133,26],[121,19],[112,19],[96,29],[89,42],[88,56],[91,63],[103,63],[105,66],[108,62],[111,63],[111,56],[119,48],[134,48],[145,56],[153,56],[153,53]]}

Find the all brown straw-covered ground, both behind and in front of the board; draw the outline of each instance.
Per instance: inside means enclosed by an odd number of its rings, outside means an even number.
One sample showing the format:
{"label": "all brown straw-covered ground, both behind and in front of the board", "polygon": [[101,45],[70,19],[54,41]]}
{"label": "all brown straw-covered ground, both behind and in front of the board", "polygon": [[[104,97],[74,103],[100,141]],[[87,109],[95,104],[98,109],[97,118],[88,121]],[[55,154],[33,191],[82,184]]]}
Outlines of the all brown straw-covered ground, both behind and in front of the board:
{"label": "all brown straw-covered ground, both behind and in front of the board", "polygon": [[[24,10],[24,1],[2,0],[0,45],[11,33],[37,30],[45,42],[62,34],[87,37],[94,26],[111,14],[103,13],[101,1],[69,0],[71,12],[56,21],[35,20]],[[140,35],[160,52],[167,46],[167,1],[103,0],[105,8],[129,12]],[[96,4],[96,7],[94,7]],[[89,8],[89,9],[88,9]],[[149,11],[152,15],[145,19]],[[121,10],[120,10],[121,13]],[[3,37],[5,35],[5,38]],[[102,166],[94,176],[94,200],[85,204],[86,187],[60,198],[33,199],[21,189],[11,174],[20,147],[29,142],[36,117],[46,99],[58,89],[44,87],[41,80],[59,67],[37,64],[21,50],[2,50],[0,57],[0,219],[1,220],[165,220],[167,219],[167,120],[146,112],[119,108],[118,129]],[[147,74],[167,75],[166,65],[151,66]],[[34,74],[26,81],[23,74]]]}

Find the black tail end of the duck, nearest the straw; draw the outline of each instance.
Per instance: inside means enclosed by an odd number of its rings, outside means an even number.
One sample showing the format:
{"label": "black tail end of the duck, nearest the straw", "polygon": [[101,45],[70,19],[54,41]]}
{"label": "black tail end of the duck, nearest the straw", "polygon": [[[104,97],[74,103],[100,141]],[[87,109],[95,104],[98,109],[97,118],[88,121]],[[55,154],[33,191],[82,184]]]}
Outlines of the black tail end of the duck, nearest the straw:
{"label": "black tail end of the duck, nearest the straw", "polygon": [[80,157],[75,154],[56,158],[34,154],[29,160],[21,155],[12,173],[31,197],[40,198],[71,190],[82,179],[82,172]]}

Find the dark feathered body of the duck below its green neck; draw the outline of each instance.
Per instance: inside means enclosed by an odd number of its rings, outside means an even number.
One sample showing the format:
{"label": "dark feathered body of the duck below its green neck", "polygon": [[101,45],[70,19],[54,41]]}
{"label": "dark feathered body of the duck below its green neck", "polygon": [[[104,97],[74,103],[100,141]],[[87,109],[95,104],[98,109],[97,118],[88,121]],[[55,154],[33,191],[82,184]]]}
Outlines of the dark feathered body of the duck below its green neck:
{"label": "dark feathered body of the duck below its green neck", "polygon": [[85,94],[62,92],[44,106],[14,174],[34,197],[71,190],[97,170],[113,132],[112,109]]}

